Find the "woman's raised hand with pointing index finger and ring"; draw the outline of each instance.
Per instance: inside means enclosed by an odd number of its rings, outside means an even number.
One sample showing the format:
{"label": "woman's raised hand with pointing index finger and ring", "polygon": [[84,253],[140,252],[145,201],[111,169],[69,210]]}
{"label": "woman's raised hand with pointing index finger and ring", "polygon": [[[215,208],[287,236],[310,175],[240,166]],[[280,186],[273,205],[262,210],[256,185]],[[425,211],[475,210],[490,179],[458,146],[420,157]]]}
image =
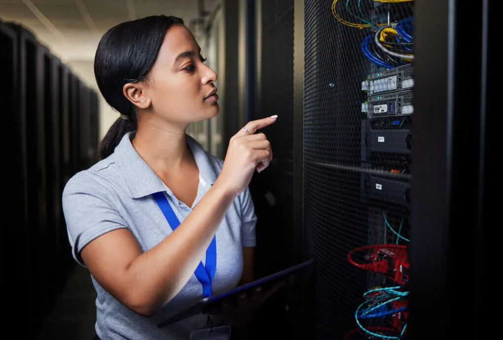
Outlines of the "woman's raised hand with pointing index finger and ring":
{"label": "woman's raised hand with pointing index finger and ring", "polygon": [[273,124],[276,116],[248,122],[232,136],[218,182],[238,195],[248,186],[255,170],[266,169],[272,158],[271,143],[259,129]]}

